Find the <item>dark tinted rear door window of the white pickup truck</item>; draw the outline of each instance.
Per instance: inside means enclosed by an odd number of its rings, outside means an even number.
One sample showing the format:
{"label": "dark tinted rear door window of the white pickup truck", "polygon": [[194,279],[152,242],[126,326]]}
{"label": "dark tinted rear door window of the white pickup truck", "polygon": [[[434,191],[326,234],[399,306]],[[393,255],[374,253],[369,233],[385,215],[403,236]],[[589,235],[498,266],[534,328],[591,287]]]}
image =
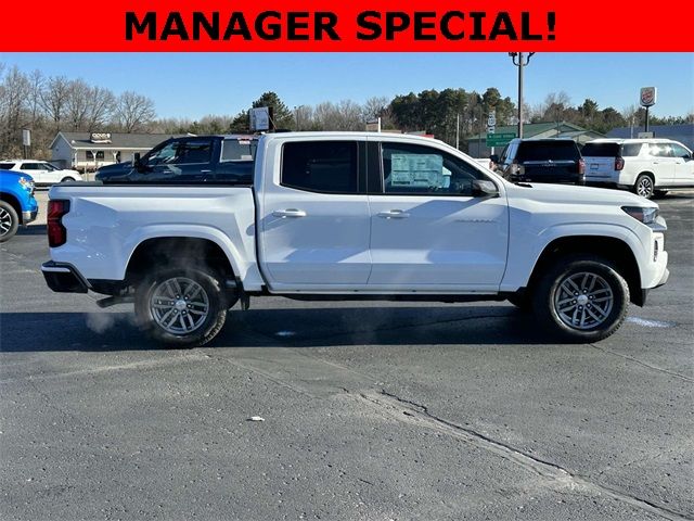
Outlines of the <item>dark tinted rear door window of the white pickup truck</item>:
{"label": "dark tinted rear door window of the white pickup truck", "polygon": [[304,141],[282,149],[282,185],[325,193],[357,193],[355,141]]}

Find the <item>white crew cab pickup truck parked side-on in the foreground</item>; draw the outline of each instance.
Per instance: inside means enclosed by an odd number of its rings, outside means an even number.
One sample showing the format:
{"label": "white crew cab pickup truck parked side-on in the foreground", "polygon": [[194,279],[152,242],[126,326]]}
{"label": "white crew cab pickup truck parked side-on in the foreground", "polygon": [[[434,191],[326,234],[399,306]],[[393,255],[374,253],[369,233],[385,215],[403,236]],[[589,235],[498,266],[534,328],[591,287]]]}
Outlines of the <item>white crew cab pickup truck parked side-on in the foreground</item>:
{"label": "white crew cab pickup truck parked side-on in the foreground", "polygon": [[250,296],[509,300],[594,342],[668,278],[657,204],[510,183],[433,139],[266,135],[254,181],[63,183],[50,191],[54,291],[134,302],[168,345],[202,345]]}

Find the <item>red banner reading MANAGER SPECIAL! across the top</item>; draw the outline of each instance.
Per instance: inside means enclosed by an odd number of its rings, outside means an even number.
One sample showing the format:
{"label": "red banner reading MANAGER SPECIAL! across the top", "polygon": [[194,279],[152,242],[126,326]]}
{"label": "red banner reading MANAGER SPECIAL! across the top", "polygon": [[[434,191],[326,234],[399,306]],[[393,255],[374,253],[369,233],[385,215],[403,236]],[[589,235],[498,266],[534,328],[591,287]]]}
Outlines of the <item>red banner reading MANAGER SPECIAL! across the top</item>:
{"label": "red banner reading MANAGER SPECIAL! across the top", "polygon": [[[692,51],[694,2],[73,0],[5,4],[3,51]],[[28,21],[29,23],[16,23]],[[30,27],[30,30],[28,29]]]}

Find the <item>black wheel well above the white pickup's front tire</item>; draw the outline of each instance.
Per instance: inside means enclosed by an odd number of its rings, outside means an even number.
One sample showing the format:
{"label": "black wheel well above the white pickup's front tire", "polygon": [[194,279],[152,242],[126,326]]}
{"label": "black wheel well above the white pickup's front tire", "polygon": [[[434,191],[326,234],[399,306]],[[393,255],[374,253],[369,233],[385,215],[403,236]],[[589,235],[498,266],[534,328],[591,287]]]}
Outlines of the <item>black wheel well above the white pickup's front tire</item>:
{"label": "black wheel well above the white pickup's front tire", "polygon": [[634,304],[640,304],[641,274],[637,258],[629,244],[613,237],[575,236],[555,239],[544,247],[535,264],[535,269],[528,281],[528,290],[532,291],[547,266],[560,257],[571,254],[596,255],[609,260],[629,284],[631,301]]}

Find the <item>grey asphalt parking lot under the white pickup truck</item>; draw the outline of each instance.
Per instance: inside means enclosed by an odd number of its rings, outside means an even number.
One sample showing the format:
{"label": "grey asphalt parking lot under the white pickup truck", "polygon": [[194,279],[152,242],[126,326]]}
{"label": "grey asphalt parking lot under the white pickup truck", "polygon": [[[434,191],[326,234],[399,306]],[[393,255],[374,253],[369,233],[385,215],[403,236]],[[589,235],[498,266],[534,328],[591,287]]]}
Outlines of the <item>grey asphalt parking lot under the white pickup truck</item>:
{"label": "grey asphalt parking lot under the white pickup truck", "polygon": [[670,281],[591,345],[505,303],[256,298],[162,351],[46,287],[39,220],[0,245],[0,518],[694,519],[694,200],[658,202]]}

